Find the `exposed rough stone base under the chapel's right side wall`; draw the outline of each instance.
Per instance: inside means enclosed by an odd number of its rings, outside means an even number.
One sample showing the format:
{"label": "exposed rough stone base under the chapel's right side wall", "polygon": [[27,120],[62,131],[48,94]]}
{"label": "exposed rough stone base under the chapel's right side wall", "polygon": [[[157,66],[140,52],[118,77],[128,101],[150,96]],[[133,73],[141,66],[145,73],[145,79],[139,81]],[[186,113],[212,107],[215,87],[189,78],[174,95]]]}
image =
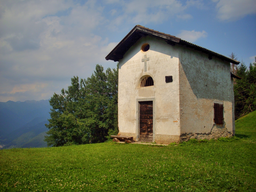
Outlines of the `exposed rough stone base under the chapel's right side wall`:
{"label": "exposed rough stone base under the chapel's right side wall", "polygon": [[227,128],[213,127],[209,133],[183,133],[180,135],[180,142],[188,141],[190,139],[218,139],[220,137],[231,137],[232,133]]}

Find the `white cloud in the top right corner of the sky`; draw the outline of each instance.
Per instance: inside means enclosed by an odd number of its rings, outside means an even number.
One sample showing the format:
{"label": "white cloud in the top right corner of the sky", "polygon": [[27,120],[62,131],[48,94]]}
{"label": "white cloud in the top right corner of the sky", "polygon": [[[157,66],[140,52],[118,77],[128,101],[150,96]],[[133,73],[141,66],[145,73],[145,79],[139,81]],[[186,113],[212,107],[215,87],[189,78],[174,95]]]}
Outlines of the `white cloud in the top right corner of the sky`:
{"label": "white cloud in the top right corner of the sky", "polygon": [[217,17],[222,21],[232,21],[256,14],[255,0],[213,0],[217,3]]}

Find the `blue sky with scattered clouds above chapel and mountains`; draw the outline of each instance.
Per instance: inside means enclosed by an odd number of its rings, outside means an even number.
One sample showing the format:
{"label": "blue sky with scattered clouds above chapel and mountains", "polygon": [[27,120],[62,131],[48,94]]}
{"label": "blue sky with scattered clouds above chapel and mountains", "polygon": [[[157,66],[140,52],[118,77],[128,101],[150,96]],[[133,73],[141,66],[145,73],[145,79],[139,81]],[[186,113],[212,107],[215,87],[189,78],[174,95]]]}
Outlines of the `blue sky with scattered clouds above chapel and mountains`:
{"label": "blue sky with scattered clouds above chapel and mountains", "polygon": [[50,99],[88,78],[135,26],[174,35],[249,66],[256,0],[0,0],[0,102]]}

